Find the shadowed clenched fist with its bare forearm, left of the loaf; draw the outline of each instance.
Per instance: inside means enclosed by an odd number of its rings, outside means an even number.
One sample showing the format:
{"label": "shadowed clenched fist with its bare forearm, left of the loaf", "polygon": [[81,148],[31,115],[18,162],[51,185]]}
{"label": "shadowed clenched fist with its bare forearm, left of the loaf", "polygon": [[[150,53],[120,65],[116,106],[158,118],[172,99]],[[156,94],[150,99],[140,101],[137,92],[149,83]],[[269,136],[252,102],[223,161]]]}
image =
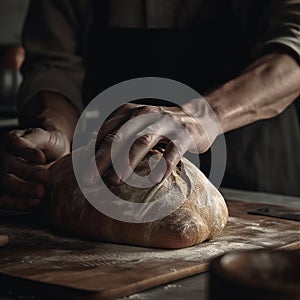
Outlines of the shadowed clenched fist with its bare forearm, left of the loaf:
{"label": "shadowed clenched fist with its bare forearm, left of the loaf", "polygon": [[0,143],[0,207],[40,203],[49,165],[70,152],[78,114],[63,95],[48,91],[22,107],[19,120],[27,129],[11,131]]}

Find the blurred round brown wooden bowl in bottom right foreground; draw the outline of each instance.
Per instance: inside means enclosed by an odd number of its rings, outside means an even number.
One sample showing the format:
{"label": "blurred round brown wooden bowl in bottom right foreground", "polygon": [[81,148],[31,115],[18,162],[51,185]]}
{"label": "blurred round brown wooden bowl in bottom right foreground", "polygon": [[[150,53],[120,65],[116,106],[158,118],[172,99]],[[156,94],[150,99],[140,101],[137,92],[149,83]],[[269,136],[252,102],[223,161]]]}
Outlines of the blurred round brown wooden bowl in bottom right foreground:
{"label": "blurred round brown wooden bowl in bottom right foreground", "polygon": [[299,300],[300,253],[227,253],[210,264],[209,299]]}

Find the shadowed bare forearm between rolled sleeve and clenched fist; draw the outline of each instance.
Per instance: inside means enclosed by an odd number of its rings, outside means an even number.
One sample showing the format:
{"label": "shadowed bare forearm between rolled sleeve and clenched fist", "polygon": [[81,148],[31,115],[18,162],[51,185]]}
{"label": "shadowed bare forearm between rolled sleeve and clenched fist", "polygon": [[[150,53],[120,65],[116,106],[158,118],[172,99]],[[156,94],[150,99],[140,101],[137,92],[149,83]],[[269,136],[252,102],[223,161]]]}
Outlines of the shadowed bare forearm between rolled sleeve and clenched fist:
{"label": "shadowed bare forearm between rolled sleeve and clenched fist", "polygon": [[79,112],[65,97],[58,93],[41,92],[22,109],[22,127],[41,127],[59,130],[72,141]]}

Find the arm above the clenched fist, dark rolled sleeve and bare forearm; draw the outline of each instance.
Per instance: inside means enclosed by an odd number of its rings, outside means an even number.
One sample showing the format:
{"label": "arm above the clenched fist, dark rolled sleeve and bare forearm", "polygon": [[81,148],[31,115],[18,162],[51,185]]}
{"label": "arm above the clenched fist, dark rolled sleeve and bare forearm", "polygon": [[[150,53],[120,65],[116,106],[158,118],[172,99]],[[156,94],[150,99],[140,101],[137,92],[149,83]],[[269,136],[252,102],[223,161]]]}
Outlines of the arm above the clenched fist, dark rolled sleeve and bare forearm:
{"label": "arm above the clenched fist, dark rolled sleeve and bare forearm", "polygon": [[[83,108],[84,41],[93,15],[92,5],[93,1],[30,2],[22,34],[26,59],[18,92],[18,106],[22,114],[26,111],[21,116],[22,125],[25,121],[26,127],[34,127],[31,118],[34,122],[38,120],[39,126],[61,127],[69,138],[72,135],[76,124],[73,106],[78,111]],[[49,20],[55,22],[49,23]],[[50,121],[52,117],[54,124]],[[72,124],[64,124],[65,119]]]}

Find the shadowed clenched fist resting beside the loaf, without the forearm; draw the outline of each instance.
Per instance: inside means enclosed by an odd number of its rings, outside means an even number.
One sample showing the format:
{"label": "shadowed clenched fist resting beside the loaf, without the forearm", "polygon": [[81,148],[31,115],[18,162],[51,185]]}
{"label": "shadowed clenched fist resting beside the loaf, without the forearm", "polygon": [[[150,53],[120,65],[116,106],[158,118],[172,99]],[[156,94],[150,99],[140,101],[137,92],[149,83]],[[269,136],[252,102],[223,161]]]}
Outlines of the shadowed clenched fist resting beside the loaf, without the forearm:
{"label": "shadowed clenched fist resting beside the loaf, without the forearm", "polygon": [[48,166],[69,153],[66,137],[58,130],[13,130],[0,144],[0,207],[26,209],[45,195]]}

